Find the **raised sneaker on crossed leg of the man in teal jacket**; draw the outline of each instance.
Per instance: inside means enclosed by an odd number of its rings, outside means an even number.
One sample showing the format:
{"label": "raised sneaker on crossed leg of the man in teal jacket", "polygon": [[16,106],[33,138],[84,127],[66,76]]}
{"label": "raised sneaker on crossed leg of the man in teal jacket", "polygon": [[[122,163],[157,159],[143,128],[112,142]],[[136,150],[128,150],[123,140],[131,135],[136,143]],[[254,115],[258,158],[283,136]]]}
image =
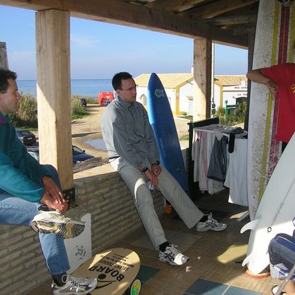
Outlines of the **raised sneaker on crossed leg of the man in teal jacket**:
{"label": "raised sneaker on crossed leg of the man in teal jacket", "polygon": [[58,210],[39,211],[33,218],[31,228],[36,232],[54,232],[58,236],[69,239],[81,234],[85,228],[85,224],[66,217]]}

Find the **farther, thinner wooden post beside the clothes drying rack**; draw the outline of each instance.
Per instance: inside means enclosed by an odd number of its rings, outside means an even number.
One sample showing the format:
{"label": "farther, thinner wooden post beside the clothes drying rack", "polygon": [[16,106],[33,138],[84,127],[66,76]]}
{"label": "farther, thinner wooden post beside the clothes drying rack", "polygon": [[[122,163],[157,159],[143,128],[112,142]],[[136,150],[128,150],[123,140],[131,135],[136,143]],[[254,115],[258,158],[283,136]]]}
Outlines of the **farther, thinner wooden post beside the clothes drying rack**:
{"label": "farther, thinner wooden post beside the clothes drying rack", "polygon": [[194,40],[193,121],[210,118],[212,81],[212,40]]}

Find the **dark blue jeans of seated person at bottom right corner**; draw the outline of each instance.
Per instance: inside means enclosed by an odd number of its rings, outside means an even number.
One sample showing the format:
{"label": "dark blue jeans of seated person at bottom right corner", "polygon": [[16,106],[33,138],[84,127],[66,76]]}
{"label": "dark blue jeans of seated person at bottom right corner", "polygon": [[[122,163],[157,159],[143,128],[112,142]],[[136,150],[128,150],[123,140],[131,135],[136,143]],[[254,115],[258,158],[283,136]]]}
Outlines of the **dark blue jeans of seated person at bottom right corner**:
{"label": "dark blue jeans of seated person at bottom right corner", "polygon": [[[295,237],[286,235],[288,240],[295,245]],[[271,276],[274,279],[283,279],[279,274],[279,271],[276,270],[273,266],[277,264],[283,264],[288,270],[291,270],[295,263],[295,246],[290,248],[282,243],[279,243],[275,238],[273,238],[268,246],[269,261],[270,261],[270,270]]]}

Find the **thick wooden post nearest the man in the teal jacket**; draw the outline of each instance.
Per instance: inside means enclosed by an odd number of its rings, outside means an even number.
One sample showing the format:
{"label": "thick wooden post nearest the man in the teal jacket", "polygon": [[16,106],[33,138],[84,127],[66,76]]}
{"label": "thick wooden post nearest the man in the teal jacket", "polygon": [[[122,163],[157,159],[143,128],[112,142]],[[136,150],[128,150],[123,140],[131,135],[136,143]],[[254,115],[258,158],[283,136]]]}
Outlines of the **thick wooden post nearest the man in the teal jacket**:
{"label": "thick wooden post nearest the man in the teal jacket", "polygon": [[69,25],[68,11],[36,13],[40,163],[58,170],[63,190],[73,188]]}

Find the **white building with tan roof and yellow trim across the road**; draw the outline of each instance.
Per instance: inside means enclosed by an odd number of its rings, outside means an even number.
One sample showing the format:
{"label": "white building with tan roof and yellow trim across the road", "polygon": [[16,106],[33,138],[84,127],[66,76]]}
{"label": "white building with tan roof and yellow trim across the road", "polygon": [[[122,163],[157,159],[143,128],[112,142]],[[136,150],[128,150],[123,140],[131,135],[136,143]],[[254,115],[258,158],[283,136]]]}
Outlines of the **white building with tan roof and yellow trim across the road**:
{"label": "white building with tan roof and yellow trim across the road", "polygon": [[[168,97],[173,115],[193,115],[193,74],[157,74]],[[147,106],[150,74],[134,79],[137,84],[136,100]],[[247,97],[247,78],[241,75],[218,75],[214,77],[213,101],[216,109],[222,105],[236,104],[236,98]]]}

